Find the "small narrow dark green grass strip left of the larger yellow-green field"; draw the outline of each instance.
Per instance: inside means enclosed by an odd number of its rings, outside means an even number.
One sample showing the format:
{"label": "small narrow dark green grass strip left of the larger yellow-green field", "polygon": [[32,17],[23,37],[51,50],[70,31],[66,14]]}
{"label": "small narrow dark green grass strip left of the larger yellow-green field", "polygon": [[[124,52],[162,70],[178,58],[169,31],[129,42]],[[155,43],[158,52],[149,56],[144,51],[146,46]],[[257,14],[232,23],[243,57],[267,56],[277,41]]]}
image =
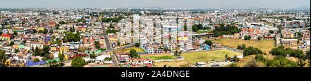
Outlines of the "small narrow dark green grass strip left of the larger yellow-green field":
{"label": "small narrow dark green grass strip left of the larger yellow-green field", "polygon": [[143,58],[149,58],[150,60],[165,60],[165,59],[176,59],[173,55],[160,55],[160,56],[142,56]]}

